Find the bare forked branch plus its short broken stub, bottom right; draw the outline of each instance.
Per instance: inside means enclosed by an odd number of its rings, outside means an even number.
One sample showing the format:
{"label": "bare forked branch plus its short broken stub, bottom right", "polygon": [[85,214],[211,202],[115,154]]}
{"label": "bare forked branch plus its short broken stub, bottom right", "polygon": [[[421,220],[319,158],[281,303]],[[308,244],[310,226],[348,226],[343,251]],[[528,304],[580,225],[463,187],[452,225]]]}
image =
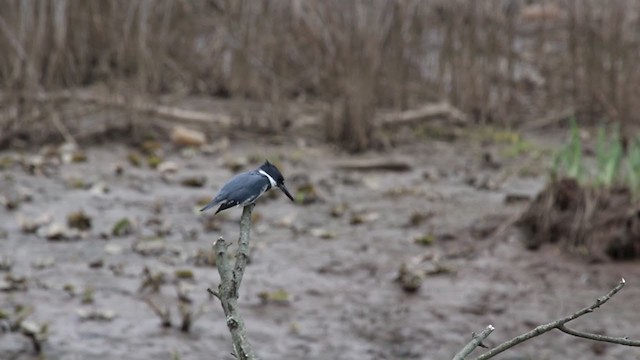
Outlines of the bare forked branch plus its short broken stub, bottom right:
{"label": "bare forked branch plus its short broken stub, bottom right", "polygon": [[[558,319],[556,321],[552,321],[548,324],[544,324],[544,325],[540,325],[538,327],[536,327],[535,329],[526,332],[522,335],[516,336],[515,338],[506,341],[494,348],[492,348],[491,350],[485,352],[484,354],[478,356],[475,360],[485,360],[485,359],[489,359],[492,358],[500,353],[502,353],[505,350],[508,350],[520,343],[523,343],[533,337],[542,335],[546,332],[549,332],[553,329],[558,329],[566,334],[569,335],[573,335],[576,337],[581,337],[581,338],[585,338],[585,339],[589,339],[589,340],[595,340],[595,341],[604,341],[604,342],[610,342],[610,343],[614,343],[614,344],[620,344],[620,345],[627,345],[627,346],[640,346],[640,341],[637,340],[629,340],[627,338],[615,338],[615,337],[610,337],[610,336],[604,336],[604,335],[597,335],[597,334],[591,334],[591,333],[586,333],[586,332],[582,332],[582,331],[576,331],[576,330],[572,330],[569,329],[567,327],[565,327],[565,324],[575,320],[585,314],[591,313],[593,312],[595,309],[599,308],[601,305],[603,305],[604,303],[606,303],[607,301],[609,301],[609,299],[611,299],[615,294],[618,293],[618,291],[620,291],[623,287],[625,286],[625,280],[622,279],[620,280],[620,282],[618,283],[618,285],[616,285],[616,287],[614,287],[611,291],[609,291],[606,295],[598,298],[592,305],[587,306],[583,309],[580,309],[579,311],[576,311],[575,313],[565,316],[561,319]],[[489,329],[493,329],[493,326],[489,325],[482,333],[474,336],[474,338],[471,340],[471,342],[469,342],[458,354],[456,354],[456,356],[454,357],[455,360],[463,360],[465,359],[465,357],[470,354],[480,343],[481,341],[486,338],[487,336],[489,336],[489,334],[491,333],[491,331],[493,330],[489,330]],[[482,337],[484,336],[484,337]]]}

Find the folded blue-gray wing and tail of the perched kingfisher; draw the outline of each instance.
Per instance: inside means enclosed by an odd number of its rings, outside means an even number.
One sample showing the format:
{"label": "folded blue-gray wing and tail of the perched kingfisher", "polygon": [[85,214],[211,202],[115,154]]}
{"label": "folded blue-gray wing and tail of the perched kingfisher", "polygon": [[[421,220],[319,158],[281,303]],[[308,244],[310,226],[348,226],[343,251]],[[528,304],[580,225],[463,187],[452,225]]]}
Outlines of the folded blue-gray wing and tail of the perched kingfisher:
{"label": "folded blue-gray wing and tail of the perched kingfisher", "polygon": [[222,186],[218,194],[200,211],[222,204],[218,211],[254,202],[269,187],[269,179],[254,172],[238,174]]}

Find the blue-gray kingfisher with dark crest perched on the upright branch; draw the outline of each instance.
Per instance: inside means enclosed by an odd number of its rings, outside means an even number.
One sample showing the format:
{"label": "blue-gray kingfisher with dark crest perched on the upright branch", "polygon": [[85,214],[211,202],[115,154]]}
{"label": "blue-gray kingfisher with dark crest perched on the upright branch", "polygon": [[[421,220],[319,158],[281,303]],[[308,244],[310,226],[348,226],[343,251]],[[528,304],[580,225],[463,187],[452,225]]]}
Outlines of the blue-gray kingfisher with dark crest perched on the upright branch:
{"label": "blue-gray kingfisher with dark crest perched on the upright branch", "polygon": [[205,211],[218,204],[220,207],[216,210],[216,214],[222,210],[232,208],[237,205],[246,206],[254,203],[260,195],[277,186],[287,195],[291,201],[294,201],[289,190],[284,186],[284,177],[275,165],[268,160],[259,168],[238,174],[222,185],[218,194],[200,211]]}

